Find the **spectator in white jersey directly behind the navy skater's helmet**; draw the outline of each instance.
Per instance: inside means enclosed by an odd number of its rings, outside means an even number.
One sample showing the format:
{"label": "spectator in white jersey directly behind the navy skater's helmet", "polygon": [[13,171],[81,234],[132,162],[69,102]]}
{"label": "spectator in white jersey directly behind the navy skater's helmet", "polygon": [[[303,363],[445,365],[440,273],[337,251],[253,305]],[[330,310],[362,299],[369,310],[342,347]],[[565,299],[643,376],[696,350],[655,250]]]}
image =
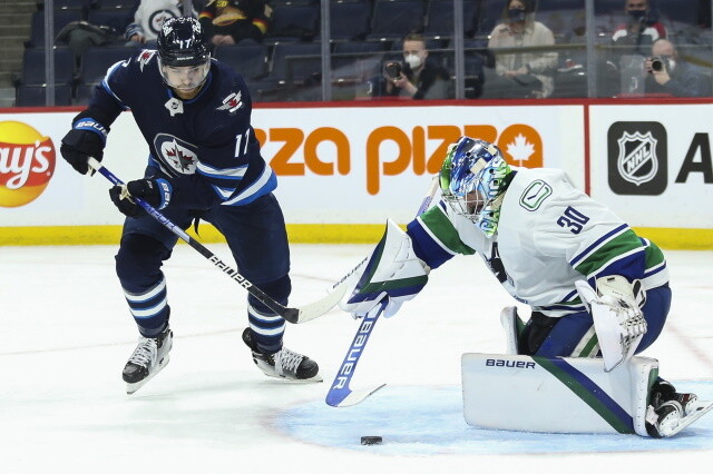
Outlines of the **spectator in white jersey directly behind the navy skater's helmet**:
{"label": "spectator in white jersey directly behind the navy skater's helmet", "polygon": [[[154,48],[158,31],[169,18],[183,17],[183,0],[139,0],[134,7],[134,22],[126,28],[126,46]],[[197,12],[194,10],[193,16]]]}

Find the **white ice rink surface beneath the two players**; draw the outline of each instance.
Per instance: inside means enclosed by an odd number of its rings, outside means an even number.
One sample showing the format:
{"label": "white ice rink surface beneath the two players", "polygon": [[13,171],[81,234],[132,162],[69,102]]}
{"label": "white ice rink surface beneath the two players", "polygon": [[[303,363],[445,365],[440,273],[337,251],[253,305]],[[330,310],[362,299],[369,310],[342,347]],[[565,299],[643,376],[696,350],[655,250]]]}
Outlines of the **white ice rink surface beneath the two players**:
{"label": "white ice rink surface beneath the two players", "polygon": [[[227,247],[208,247],[228,259]],[[291,304],[322,296],[370,249],[293,245]],[[241,340],[245,292],[178,246],[165,266],[170,364],[128,396],[121,368],[137,333],[115,253],[0,247],[0,473],[711,472],[713,415],[663,441],[468,426],[460,356],[502,352],[499,312],[512,303],[477,257],[433,271],[414,300],[379,322],[352,387],[387,387],[332,408],[324,396],[358,324],[334,310],[289,326],[285,345],[314,358],[325,382],[267,379]],[[666,256],[673,308],[644,355],[680,389],[711,399],[713,251]],[[362,435],[384,443],[362,446]]]}

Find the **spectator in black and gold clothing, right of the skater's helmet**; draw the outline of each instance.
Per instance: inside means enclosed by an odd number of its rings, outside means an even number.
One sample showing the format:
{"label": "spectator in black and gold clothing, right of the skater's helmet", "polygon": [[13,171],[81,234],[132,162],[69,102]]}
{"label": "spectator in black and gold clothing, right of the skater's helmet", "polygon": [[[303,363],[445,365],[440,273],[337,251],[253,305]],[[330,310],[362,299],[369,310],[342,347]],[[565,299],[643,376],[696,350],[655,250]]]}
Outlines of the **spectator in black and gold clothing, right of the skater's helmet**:
{"label": "spectator in black and gold clothing, right of the skater's helmet", "polygon": [[198,16],[214,46],[261,42],[271,19],[272,7],[264,0],[208,0]]}

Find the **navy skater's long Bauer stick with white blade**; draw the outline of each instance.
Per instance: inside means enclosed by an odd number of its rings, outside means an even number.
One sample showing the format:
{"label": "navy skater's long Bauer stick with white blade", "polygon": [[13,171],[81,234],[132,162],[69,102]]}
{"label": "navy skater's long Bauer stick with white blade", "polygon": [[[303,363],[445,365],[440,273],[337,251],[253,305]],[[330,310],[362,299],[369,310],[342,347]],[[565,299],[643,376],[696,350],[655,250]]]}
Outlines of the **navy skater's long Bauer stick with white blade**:
{"label": "navy skater's long Bauer stick with white blade", "polygon": [[[102,166],[95,158],[89,158],[89,166],[94,170],[99,171],[99,174],[101,174],[101,176],[107,178],[114,185],[123,185],[124,184],[119,178],[117,178],[111,171],[109,171],[105,166]],[[309,305],[305,305],[305,306],[302,306],[302,307],[297,307],[297,308],[284,307],[280,303],[275,302],[273,298],[267,296],[265,293],[263,293],[255,285],[250,283],[250,280],[247,280],[243,275],[241,275],[238,270],[231,268],[231,266],[228,264],[226,264],[225,261],[221,260],[215,254],[213,254],[211,250],[208,250],[206,247],[204,247],[203,244],[201,244],[198,240],[192,238],[180,227],[178,227],[174,223],[172,223],[167,217],[165,217],[163,214],[160,214],[158,210],[156,210],[152,205],[146,203],[144,199],[140,199],[140,198],[137,198],[137,197],[134,197],[134,199],[136,200],[136,203],[139,206],[141,206],[144,208],[144,210],[146,210],[146,213],[148,213],[149,216],[152,216],[154,219],[158,220],[164,227],[166,227],[168,230],[174,233],[178,238],[184,240],[186,244],[188,244],[195,250],[197,250],[198,254],[201,254],[205,258],[207,258],[208,261],[211,261],[213,265],[215,265],[217,268],[219,268],[224,274],[226,274],[232,279],[237,282],[243,288],[245,288],[247,290],[247,293],[253,295],[261,303],[263,303],[270,309],[272,309],[273,312],[275,312],[276,314],[282,316],[289,323],[293,323],[293,324],[305,323],[307,320],[311,320],[311,319],[314,319],[316,317],[320,317],[320,316],[324,315],[326,312],[329,312],[331,308],[333,308],[334,305],[336,305],[336,303],[339,303],[339,300],[342,299],[342,297],[344,296],[344,293],[346,293],[345,280],[349,277],[349,275],[345,276],[340,282],[338,282],[332,287],[332,290],[326,296],[324,296],[323,298],[321,298],[321,299],[319,299],[319,300],[316,300],[314,303],[311,303]],[[359,267],[356,267],[356,268],[359,268]],[[354,270],[352,270],[351,273],[353,273]],[[351,273],[350,273],[350,275],[351,275]]]}

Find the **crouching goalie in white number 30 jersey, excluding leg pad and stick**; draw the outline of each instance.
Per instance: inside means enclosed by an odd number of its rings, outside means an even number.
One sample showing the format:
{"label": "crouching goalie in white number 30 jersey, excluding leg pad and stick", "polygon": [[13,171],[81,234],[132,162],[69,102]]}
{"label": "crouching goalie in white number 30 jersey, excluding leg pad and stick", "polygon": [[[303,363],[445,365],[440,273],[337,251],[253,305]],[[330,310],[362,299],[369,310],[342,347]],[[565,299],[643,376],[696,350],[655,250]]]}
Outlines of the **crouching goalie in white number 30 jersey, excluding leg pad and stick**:
{"label": "crouching goalie in white number 30 jersey, excluding leg pad and stick", "polygon": [[[388,226],[340,303],[344,310],[360,317],[388,298],[384,315],[393,315],[426,285],[430,269],[458,254],[478,254],[505,289],[530,306],[525,325],[515,308],[504,310],[511,354],[598,355],[593,316],[576,282],[592,287],[589,306],[617,315],[616,340],[621,335],[626,357],[634,354],[626,349],[638,353],[658,337],[671,306],[663,253],[575,189],[564,171],[511,167],[496,146],[462,137],[449,148],[440,187],[441,201],[408,224],[406,234]],[[661,378],[649,404],[646,431],[654,437],[675,434],[682,418],[700,408],[695,395],[676,393]]]}

